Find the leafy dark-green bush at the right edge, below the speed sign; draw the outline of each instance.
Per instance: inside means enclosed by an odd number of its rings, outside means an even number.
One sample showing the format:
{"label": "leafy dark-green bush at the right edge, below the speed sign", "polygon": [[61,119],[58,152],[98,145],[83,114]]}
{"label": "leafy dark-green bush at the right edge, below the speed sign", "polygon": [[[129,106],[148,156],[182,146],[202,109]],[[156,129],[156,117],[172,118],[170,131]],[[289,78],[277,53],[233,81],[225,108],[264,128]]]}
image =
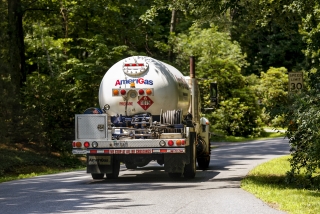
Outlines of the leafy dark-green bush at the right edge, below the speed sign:
{"label": "leafy dark-green bush at the right edge, below the speed sign", "polygon": [[[312,89],[295,95],[288,118],[291,120],[287,136],[291,146],[291,171],[288,181],[301,181],[303,186],[310,187],[314,180],[319,180],[320,174],[320,95]],[[297,179],[304,172],[304,179]]]}

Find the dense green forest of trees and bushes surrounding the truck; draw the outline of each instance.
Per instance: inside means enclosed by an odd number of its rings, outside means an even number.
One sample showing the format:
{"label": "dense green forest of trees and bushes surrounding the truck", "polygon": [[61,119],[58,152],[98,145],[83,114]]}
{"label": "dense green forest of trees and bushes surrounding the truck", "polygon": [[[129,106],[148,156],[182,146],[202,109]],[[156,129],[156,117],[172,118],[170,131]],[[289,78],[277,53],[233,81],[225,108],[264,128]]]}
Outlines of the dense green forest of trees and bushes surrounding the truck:
{"label": "dense green forest of trees and bushes surrounding the truck", "polygon": [[[105,72],[150,56],[188,74],[215,132],[288,127],[291,175],[319,168],[320,5],[316,0],[0,0],[0,145],[71,155],[74,115],[98,107]],[[304,88],[288,93],[288,73]],[[1,174],[1,170],[0,170]]]}

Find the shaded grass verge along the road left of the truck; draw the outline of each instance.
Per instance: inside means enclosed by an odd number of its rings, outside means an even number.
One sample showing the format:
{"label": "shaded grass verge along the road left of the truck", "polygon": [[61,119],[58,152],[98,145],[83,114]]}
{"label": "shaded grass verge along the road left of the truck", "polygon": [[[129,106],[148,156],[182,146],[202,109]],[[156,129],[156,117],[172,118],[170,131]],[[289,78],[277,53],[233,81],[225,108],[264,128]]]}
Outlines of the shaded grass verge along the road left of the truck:
{"label": "shaded grass verge along the road left of the truck", "polygon": [[34,145],[0,144],[0,182],[37,175],[83,169],[83,161],[73,156],[39,152]]}

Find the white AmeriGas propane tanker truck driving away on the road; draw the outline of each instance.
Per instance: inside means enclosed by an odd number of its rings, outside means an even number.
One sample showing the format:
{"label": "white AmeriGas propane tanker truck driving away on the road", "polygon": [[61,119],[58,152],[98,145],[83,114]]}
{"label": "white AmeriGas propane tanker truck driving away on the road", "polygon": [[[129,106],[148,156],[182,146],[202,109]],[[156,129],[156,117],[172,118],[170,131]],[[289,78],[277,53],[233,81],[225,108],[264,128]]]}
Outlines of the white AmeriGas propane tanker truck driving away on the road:
{"label": "white AmeriGas propane tanker truck driving away on the road", "polygon": [[172,178],[194,178],[210,163],[209,121],[200,116],[194,58],[190,76],[146,56],[114,64],[99,88],[100,108],[75,115],[72,153],[86,155],[93,179],[117,178],[120,164],[156,161]]}

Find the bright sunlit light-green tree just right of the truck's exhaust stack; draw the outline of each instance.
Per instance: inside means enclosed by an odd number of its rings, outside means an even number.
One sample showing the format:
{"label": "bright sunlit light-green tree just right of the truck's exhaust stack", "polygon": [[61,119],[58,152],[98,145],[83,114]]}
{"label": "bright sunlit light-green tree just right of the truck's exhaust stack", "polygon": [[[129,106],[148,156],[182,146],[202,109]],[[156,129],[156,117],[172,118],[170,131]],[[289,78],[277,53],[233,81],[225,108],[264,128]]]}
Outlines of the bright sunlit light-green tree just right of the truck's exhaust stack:
{"label": "bright sunlit light-green tree just right of the truck's exhaust stack", "polygon": [[201,29],[196,25],[190,28],[189,34],[180,34],[172,42],[177,53],[176,64],[181,70],[188,70],[189,56],[197,59],[197,77],[204,79],[200,84],[203,107],[209,105],[208,83],[218,83],[220,106],[209,115],[215,130],[235,136],[259,134],[260,109],[253,90],[246,86],[241,75],[246,61],[239,45],[215,26]]}

